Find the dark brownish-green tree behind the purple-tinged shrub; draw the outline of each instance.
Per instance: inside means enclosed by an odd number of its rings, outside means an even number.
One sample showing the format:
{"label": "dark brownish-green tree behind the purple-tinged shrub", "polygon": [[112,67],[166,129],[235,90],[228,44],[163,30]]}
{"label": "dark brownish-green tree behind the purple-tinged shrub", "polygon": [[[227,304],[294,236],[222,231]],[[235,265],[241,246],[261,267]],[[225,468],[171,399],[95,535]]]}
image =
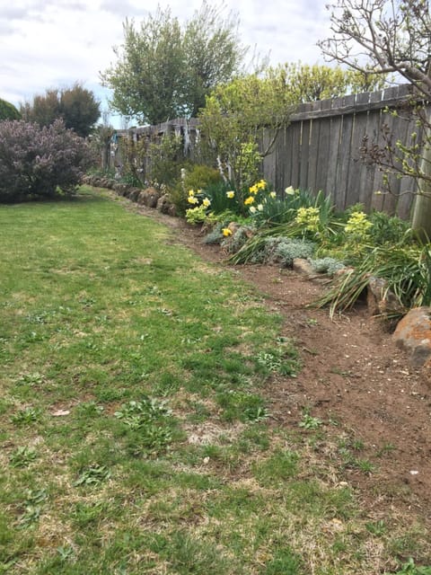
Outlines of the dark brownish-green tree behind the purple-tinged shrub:
{"label": "dark brownish-green tree behind the purple-tinged shrub", "polygon": [[63,119],[66,128],[86,137],[101,117],[101,110],[94,94],[76,83],[71,88],[51,89],[34,96],[32,102],[22,104],[21,114],[26,121],[40,126],[50,126],[56,119]]}

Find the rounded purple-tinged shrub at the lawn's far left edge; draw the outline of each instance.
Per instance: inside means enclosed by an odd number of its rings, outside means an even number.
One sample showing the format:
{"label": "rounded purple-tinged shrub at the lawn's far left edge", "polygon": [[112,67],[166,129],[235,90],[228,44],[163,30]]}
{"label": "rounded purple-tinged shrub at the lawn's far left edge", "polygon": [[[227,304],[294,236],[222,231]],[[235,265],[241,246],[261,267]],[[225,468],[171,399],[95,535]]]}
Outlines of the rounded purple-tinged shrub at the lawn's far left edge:
{"label": "rounded purple-tinged shrub at the lawn's far left edge", "polygon": [[84,139],[56,120],[48,128],[0,123],[0,201],[73,194],[92,156]]}

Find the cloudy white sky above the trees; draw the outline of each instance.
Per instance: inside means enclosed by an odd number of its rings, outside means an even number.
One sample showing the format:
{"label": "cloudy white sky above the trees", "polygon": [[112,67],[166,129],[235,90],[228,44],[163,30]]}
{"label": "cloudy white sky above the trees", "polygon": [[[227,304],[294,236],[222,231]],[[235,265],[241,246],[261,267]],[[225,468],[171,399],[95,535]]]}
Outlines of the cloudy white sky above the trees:
{"label": "cloudy white sky above the trees", "polygon": [[[113,47],[123,42],[123,22],[136,24],[157,5],[187,22],[201,0],[0,0],[0,98],[31,102],[51,88],[76,82],[91,90],[109,111],[110,91],[100,73],[117,58]],[[184,5],[186,4],[186,5]],[[301,61],[324,63],[318,40],[330,36],[324,0],[224,0],[222,14],[236,13],[242,44],[271,65]],[[110,112],[110,123],[121,119]]]}

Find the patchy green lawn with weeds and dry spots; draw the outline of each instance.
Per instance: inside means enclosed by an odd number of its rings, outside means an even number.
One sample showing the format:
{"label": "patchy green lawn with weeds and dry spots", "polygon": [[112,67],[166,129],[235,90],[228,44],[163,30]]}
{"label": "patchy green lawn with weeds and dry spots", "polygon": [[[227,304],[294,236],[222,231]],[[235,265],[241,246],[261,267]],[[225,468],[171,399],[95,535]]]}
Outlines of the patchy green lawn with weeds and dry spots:
{"label": "patchy green lawn with weeds and dry spots", "polygon": [[310,414],[274,427],[266,384],[301,368],[282,318],[121,202],[83,189],[0,208],[0,573],[429,560],[420,525],[340,486],[346,467],[372,473],[357,446],[318,458]]}

